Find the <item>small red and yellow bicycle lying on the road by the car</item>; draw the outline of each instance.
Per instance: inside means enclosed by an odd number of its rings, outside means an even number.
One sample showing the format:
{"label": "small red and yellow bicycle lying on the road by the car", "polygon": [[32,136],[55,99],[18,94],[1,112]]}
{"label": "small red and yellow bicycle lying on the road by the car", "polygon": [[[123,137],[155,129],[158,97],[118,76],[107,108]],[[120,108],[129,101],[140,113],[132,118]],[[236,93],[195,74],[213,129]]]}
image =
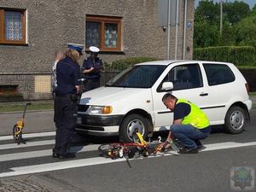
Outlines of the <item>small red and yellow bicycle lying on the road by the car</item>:
{"label": "small red and yellow bicycle lying on the road by the car", "polygon": [[[166,141],[166,143],[147,143],[140,132],[133,133],[133,142],[134,143],[110,143],[102,144],[98,150],[102,153],[102,156],[111,158],[113,160],[117,158],[123,158],[127,160],[127,163],[130,166],[128,159],[131,159],[136,156],[143,155],[148,157],[148,155],[156,154],[166,154],[169,151],[174,151],[176,154],[179,153],[182,146],[175,142],[174,139]],[[131,166],[130,166],[131,167]]]}

